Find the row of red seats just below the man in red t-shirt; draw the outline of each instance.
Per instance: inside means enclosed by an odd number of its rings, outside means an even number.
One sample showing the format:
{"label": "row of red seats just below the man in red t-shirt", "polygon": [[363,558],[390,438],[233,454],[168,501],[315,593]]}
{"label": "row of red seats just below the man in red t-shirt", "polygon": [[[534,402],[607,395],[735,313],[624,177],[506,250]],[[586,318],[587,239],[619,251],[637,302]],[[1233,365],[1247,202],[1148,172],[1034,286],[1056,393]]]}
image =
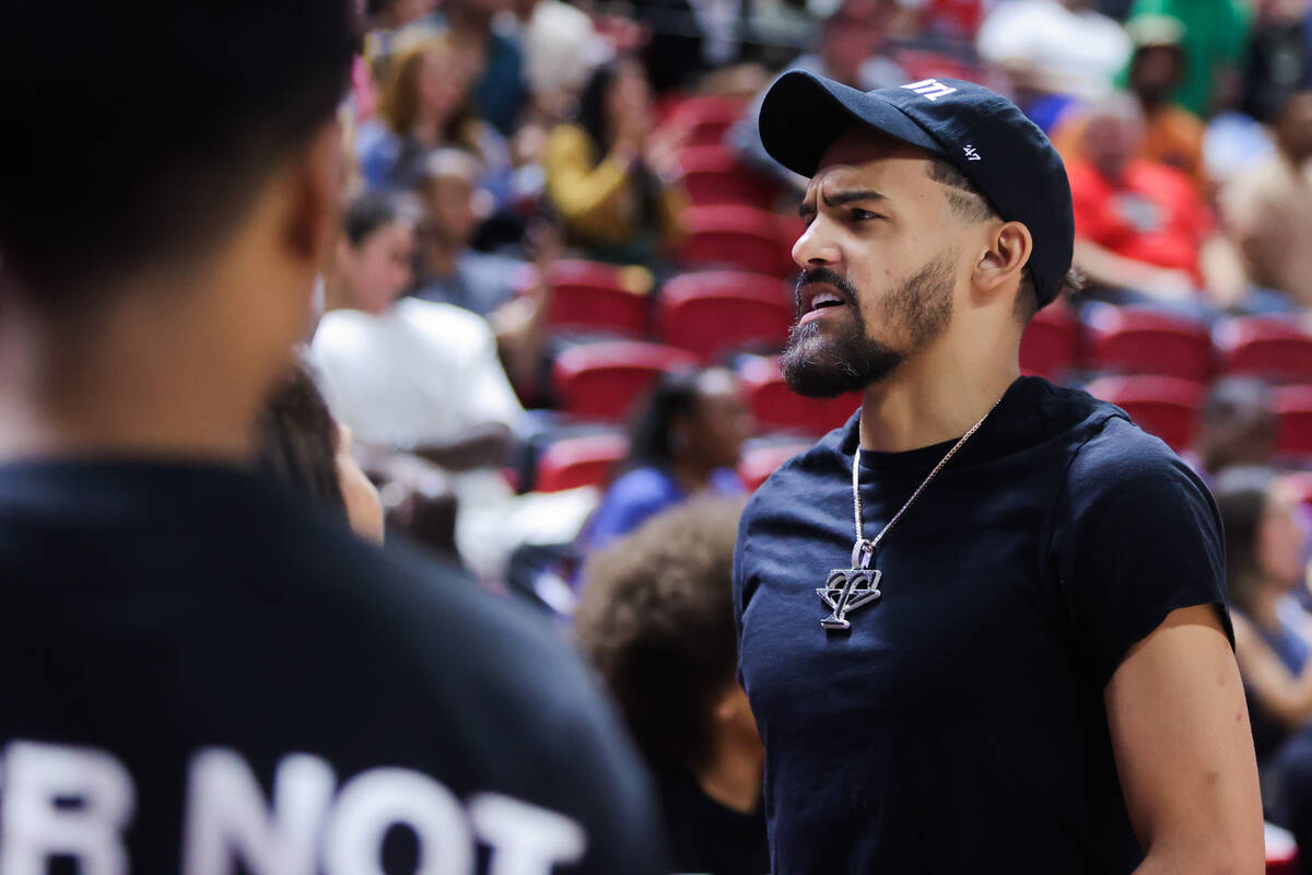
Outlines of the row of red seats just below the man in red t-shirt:
{"label": "row of red seats just below the man in red t-shirt", "polygon": [[1237,316],[1206,325],[1162,312],[1106,307],[1081,323],[1071,307],[1039,311],[1021,344],[1026,373],[1060,379],[1073,370],[1160,374],[1207,383],[1252,374],[1312,383],[1312,335],[1298,323]]}

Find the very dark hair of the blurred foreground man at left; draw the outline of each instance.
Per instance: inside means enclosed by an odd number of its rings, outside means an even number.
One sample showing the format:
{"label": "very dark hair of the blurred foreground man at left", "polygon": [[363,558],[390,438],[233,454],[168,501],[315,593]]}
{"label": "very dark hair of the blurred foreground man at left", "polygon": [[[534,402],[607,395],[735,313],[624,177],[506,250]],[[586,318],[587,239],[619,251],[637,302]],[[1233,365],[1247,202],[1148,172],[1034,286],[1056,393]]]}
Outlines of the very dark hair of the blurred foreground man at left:
{"label": "very dark hair of the blurred foreground man at left", "polygon": [[42,308],[231,232],[345,94],[352,0],[0,5],[0,272]]}

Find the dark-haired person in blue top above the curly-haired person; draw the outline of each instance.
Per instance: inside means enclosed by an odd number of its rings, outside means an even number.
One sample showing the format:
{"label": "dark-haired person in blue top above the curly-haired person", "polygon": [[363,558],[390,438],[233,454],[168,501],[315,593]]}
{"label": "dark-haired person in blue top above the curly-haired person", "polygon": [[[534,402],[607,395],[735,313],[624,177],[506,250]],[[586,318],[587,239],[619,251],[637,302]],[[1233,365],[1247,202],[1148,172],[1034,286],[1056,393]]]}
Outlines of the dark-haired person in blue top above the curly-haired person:
{"label": "dark-haired person in blue top above the curly-haired person", "polygon": [[712,367],[663,376],[634,420],[623,474],[584,529],[583,552],[690,496],[743,492],[736,467],[754,430],[732,371]]}

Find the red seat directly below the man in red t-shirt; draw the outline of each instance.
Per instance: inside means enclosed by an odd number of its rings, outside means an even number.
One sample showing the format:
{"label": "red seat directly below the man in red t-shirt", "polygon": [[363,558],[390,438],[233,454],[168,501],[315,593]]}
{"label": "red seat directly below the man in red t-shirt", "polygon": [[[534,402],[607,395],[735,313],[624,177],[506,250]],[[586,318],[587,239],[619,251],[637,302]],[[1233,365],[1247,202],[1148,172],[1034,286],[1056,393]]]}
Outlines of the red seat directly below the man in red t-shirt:
{"label": "red seat directly below the man in red t-shirt", "polygon": [[1215,371],[1206,325],[1169,314],[1101,307],[1086,323],[1089,365],[1099,371],[1164,374],[1206,383]]}

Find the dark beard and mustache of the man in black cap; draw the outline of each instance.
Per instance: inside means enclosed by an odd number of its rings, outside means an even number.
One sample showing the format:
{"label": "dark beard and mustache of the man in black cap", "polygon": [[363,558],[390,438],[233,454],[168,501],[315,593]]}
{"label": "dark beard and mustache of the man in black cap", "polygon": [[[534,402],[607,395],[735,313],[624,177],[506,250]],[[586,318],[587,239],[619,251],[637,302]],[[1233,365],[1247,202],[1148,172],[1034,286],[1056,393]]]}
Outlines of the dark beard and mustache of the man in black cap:
{"label": "dark beard and mustache of the man in black cap", "polygon": [[806,324],[794,324],[779,359],[783,379],[798,395],[836,397],[844,392],[866,388],[887,378],[909,356],[943,333],[953,316],[953,258],[943,256],[921,268],[880,304],[884,325],[904,325],[905,349],[866,336],[866,321],[857,304],[857,290],[845,277],[827,268],[802,272],[798,277],[795,303],[802,317],[802,287],[823,282],[846,298],[850,312],[840,324],[821,328],[821,316]]}

